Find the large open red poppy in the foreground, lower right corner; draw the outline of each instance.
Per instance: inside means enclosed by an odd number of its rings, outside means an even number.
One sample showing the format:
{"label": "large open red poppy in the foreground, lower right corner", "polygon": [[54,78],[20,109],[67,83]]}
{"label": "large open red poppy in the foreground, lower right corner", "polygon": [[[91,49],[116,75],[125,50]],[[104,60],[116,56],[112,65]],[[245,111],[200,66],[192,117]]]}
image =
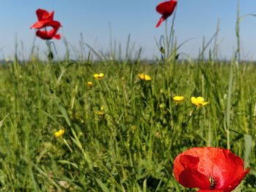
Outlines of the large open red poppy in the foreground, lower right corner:
{"label": "large open red poppy in the foreground, lower right corner", "polygon": [[240,157],[219,147],[186,150],[173,163],[178,183],[186,188],[199,188],[200,192],[233,191],[248,172]]}

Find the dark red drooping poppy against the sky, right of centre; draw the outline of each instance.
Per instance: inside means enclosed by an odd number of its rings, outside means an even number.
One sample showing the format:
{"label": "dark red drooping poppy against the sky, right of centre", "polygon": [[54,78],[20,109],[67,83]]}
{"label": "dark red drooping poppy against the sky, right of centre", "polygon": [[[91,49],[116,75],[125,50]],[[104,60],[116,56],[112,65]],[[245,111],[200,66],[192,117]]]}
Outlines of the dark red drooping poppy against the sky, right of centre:
{"label": "dark red drooping poppy against the sky, right of centre", "polygon": [[170,15],[172,15],[176,7],[176,4],[177,4],[176,0],[170,0],[170,1],[159,3],[157,5],[156,7],[157,12],[159,12],[159,14],[161,14],[162,17],[159,19],[156,27],[159,27],[164,20],[166,20]]}

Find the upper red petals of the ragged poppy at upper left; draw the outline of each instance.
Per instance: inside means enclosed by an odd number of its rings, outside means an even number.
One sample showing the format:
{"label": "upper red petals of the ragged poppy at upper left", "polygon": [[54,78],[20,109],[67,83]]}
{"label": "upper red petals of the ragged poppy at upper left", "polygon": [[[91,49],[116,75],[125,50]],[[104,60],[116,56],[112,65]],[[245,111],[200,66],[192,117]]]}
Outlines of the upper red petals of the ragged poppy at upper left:
{"label": "upper red petals of the ragged poppy at upper left", "polygon": [[48,23],[50,20],[53,20],[54,12],[48,12],[45,9],[37,9],[37,18],[38,21],[34,23],[30,28],[42,28],[45,23]]}

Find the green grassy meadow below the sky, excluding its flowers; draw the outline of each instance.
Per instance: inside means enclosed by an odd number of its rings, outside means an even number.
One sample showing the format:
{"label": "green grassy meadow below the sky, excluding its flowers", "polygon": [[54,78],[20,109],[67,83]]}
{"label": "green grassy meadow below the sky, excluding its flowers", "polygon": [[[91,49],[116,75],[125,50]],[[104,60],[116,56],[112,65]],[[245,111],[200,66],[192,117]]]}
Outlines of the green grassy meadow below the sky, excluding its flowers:
{"label": "green grassy meadow below the sky, excluding its flowers", "polygon": [[[186,191],[173,159],[194,146],[230,147],[251,169],[237,191],[256,191],[253,64],[172,58],[0,67],[0,191]],[[208,104],[197,109],[192,96]]]}

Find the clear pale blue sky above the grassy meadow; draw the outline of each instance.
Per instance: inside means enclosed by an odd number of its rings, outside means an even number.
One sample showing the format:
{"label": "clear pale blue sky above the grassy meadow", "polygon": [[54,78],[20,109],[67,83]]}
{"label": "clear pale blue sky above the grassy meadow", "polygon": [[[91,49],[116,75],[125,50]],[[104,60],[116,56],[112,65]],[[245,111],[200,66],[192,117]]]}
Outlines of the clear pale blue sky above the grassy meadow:
{"label": "clear pale blue sky above the grassy meadow", "polygon": [[[15,37],[18,39],[20,57],[30,53],[34,30],[29,26],[36,22],[38,8],[55,11],[55,20],[62,24],[60,33],[75,49],[79,48],[80,34],[85,42],[99,51],[110,49],[110,26],[112,37],[120,42],[123,50],[127,37],[135,50],[143,47],[144,58],[158,55],[154,38],[165,33],[165,25],[155,28],[160,15],[155,11],[158,0],[1,0],[0,12],[0,58],[15,53]],[[192,38],[181,52],[197,57],[203,37],[210,39],[220,21],[219,57],[230,58],[236,48],[236,0],[178,0],[176,10],[176,37],[178,43]],[[241,15],[255,13],[255,0],[241,0]],[[170,19],[168,20],[170,23]],[[241,49],[246,59],[256,58],[256,18],[247,17],[241,22]],[[63,39],[55,40],[59,57],[64,54]],[[45,42],[36,39],[39,52],[44,53]]]}

